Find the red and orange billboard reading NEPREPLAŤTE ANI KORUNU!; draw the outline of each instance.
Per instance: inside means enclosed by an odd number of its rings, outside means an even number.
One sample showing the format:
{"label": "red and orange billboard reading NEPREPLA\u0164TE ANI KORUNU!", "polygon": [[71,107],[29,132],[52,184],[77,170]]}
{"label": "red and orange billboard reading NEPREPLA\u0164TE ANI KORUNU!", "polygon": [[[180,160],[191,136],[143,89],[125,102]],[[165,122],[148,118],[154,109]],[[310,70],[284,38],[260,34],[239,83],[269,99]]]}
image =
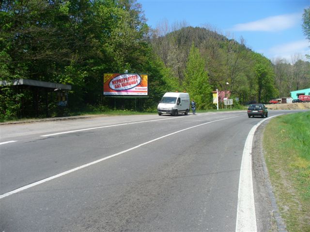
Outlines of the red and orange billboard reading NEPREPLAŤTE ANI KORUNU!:
{"label": "red and orange billboard reading NEPREPLA\u0164TE ANI KORUNU!", "polygon": [[135,73],[103,74],[103,94],[110,96],[147,96],[147,75]]}

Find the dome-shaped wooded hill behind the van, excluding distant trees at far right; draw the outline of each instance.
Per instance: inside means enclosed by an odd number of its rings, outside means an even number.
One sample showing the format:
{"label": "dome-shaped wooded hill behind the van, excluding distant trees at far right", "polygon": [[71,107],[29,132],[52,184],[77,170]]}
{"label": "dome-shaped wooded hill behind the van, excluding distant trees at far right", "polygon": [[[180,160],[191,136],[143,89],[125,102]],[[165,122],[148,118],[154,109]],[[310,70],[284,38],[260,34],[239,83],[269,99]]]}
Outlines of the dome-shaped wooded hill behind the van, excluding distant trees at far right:
{"label": "dome-shaped wooded hill behind the van, excluding distant trees at far right", "polygon": [[230,40],[205,28],[185,27],[164,36],[156,36],[155,33],[152,45],[165,66],[171,69],[181,90],[186,88],[182,83],[186,79],[187,62],[193,46],[204,61],[212,90],[230,90],[242,102],[266,102],[279,95],[271,61],[250,50],[243,38]]}

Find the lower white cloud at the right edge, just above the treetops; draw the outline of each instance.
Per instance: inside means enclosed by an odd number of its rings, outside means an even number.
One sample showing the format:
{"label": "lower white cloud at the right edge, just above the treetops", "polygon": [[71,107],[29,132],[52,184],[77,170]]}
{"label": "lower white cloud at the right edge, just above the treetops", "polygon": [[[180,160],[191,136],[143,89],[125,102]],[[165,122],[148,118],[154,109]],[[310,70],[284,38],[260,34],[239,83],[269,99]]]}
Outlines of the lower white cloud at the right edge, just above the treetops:
{"label": "lower white cloud at the right edge, just above the treetops", "polygon": [[270,58],[285,58],[290,61],[294,56],[301,55],[303,58],[310,54],[310,43],[307,40],[299,40],[291,43],[284,43],[268,50]]}

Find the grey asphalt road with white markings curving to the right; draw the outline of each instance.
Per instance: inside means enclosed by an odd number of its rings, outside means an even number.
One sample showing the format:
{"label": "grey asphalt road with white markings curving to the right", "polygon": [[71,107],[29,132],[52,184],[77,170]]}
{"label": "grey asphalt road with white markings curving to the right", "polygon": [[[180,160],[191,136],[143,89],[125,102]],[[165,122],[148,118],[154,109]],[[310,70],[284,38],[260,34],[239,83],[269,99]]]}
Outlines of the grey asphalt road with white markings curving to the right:
{"label": "grey asphalt road with white markings curving to the right", "polygon": [[0,231],[235,231],[245,141],[261,120],[232,111],[1,125]]}

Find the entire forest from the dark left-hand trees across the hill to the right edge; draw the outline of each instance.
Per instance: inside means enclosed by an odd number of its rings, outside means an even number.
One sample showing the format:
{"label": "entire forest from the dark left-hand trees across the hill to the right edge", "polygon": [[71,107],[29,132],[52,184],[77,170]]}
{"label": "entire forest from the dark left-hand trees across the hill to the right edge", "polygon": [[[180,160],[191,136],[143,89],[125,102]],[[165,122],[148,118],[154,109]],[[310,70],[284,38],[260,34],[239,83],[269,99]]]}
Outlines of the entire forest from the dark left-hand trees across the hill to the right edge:
{"label": "entire forest from the dark left-hand trees across the hill to the right edge", "polygon": [[[309,14],[305,9],[303,29],[310,40]],[[230,91],[238,107],[310,87],[309,57],[271,61],[249,49],[243,38],[228,39],[211,27],[185,22],[169,26],[164,21],[153,29],[146,16],[136,0],[3,0],[0,81],[71,85],[67,114],[84,109],[155,112],[162,95],[174,91],[188,92],[198,109],[211,109],[216,89]],[[148,75],[148,98],[103,95],[103,74],[126,71]],[[53,91],[34,96],[30,89],[0,87],[2,120],[44,117],[46,108],[48,116],[59,116]]]}

